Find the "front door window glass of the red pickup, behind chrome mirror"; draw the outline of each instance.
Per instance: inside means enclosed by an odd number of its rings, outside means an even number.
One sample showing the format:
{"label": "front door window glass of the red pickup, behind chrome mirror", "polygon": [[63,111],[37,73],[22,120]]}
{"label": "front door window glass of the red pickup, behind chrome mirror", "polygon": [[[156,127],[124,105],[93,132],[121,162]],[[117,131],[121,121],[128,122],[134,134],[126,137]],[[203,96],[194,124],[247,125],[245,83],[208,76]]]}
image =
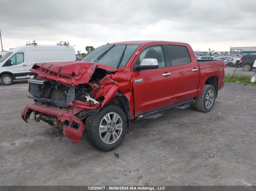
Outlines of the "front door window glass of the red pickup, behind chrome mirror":
{"label": "front door window glass of the red pickup, behind chrome mirror", "polygon": [[161,45],[149,46],[145,48],[139,56],[140,63],[145,58],[157,59],[158,68],[165,67],[165,55],[164,55],[163,47]]}

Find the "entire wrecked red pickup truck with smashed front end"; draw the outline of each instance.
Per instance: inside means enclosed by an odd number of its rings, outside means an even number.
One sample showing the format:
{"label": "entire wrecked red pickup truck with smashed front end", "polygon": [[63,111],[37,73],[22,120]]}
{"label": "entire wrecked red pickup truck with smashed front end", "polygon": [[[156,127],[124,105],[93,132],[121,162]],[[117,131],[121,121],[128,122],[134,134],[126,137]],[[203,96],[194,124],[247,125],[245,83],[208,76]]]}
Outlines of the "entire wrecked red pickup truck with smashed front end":
{"label": "entire wrecked red pickup truck with smashed front end", "polygon": [[209,112],[224,86],[224,61],[197,60],[187,43],[129,41],[98,47],[81,61],[36,63],[21,114],[63,129],[78,143],[111,151],[131,119],[154,119],[170,108]]}

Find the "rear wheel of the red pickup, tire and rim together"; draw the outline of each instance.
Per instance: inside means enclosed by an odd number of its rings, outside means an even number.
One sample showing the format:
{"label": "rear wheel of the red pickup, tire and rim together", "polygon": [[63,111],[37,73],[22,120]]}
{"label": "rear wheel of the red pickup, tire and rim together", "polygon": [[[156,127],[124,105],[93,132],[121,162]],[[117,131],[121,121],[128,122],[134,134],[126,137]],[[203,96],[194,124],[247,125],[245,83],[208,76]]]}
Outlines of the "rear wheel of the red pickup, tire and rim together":
{"label": "rear wheel of the red pickup, tire and rim together", "polygon": [[212,85],[204,85],[201,96],[196,99],[196,108],[198,111],[209,112],[214,106],[216,98],[215,89]]}

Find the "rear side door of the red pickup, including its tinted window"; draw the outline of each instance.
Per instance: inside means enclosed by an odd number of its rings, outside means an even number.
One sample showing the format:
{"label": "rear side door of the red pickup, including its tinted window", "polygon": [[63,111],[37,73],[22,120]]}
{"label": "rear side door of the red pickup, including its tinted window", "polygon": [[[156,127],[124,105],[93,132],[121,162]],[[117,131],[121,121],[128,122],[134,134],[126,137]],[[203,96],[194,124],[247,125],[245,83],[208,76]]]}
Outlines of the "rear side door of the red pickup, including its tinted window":
{"label": "rear side door of the red pickup, including its tinted window", "polygon": [[191,58],[193,50],[186,44],[167,44],[171,61],[170,104],[179,103],[195,97],[200,78],[198,62]]}

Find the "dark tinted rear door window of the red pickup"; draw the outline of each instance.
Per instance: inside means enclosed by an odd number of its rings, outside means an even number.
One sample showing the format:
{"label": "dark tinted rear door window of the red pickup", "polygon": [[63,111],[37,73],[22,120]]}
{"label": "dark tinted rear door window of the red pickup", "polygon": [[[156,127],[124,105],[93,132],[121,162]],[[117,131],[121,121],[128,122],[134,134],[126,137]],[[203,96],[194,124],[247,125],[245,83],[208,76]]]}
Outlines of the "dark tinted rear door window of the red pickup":
{"label": "dark tinted rear door window of the red pickup", "polygon": [[183,65],[191,62],[186,46],[168,45],[171,56],[171,65]]}

